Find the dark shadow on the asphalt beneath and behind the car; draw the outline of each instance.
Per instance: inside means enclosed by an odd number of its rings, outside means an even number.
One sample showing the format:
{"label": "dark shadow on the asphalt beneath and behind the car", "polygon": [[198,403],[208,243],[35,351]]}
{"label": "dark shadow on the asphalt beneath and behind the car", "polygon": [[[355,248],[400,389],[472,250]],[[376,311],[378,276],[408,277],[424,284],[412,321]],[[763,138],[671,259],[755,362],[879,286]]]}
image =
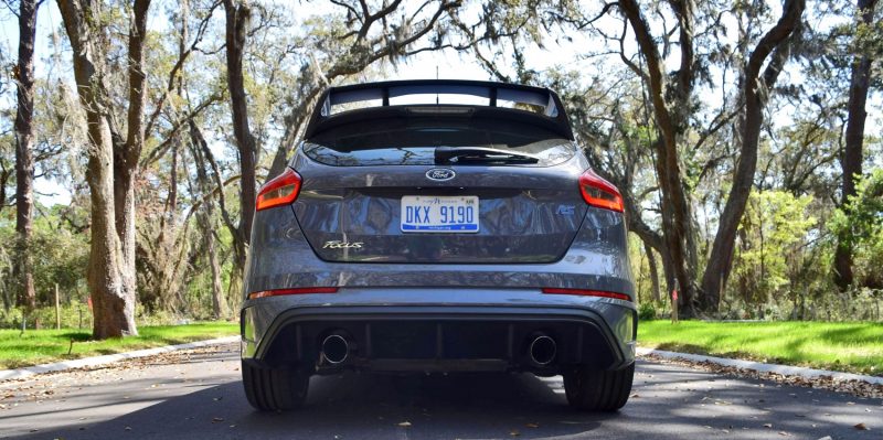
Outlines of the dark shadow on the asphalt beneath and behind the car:
{"label": "dark shadow on the asphalt beneath and behind the car", "polygon": [[[560,380],[557,380],[560,384]],[[572,410],[560,385],[532,375],[313,377],[307,405],[253,410],[231,383],[40,438],[539,438],[592,431],[620,414]],[[85,428],[85,429],[83,429]]]}

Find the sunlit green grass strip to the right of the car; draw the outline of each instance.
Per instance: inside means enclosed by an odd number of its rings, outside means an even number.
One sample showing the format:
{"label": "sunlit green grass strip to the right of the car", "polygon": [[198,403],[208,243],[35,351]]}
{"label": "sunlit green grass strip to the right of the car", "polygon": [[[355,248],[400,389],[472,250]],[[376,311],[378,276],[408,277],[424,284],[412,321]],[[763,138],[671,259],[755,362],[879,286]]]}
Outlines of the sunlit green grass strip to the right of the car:
{"label": "sunlit green grass strip to the right of the car", "polygon": [[883,375],[883,323],[641,321],[640,346]]}

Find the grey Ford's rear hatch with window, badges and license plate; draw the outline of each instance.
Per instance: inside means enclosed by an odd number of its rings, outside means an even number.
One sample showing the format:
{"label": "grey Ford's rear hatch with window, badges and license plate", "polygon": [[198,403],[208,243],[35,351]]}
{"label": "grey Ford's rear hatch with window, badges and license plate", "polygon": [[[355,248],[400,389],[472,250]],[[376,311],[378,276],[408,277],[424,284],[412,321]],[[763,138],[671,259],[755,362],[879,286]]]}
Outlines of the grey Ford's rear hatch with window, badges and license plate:
{"label": "grey Ford's rear hatch with window, badges and license plate", "polygon": [[471,107],[387,108],[310,137],[292,167],[328,261],[551,262],[587,208],[572,140]]}

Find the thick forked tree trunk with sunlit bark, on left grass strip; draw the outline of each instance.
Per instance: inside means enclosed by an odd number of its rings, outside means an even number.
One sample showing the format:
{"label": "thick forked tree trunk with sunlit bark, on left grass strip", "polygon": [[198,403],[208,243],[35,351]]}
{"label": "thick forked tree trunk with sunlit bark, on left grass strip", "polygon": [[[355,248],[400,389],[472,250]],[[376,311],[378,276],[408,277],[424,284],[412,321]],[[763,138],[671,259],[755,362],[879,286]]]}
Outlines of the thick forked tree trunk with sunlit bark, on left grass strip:
{"label": "thick forked tree trunk with sunlit bark, on left grass strip", "polygon": [[143,45],[150,0],[135,0],[128,35],[128,115],[124,138],[110,108],[107,47],[100,3],[58,0],[73,49],[74,77],[88,124],[86,179],[92,200],[88,285],[95,314],[93,336],[136,335],[135,189],[143,146]]}

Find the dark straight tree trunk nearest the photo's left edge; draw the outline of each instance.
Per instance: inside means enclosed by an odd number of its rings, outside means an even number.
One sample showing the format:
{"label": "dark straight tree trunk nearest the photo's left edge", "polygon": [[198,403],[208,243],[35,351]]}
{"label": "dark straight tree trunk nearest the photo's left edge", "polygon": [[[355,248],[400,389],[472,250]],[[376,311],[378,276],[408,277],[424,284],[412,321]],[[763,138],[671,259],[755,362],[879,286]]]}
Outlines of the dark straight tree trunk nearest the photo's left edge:
{"label": "dark straight tree trunk nearest the photo's left edge", "polygon": [[34,212],[34,40],[36,11],[42,0],[21,0],[19,3],[18,111],[15,115],[15,232],[17,249],[13,278],[17,281],[17,304],[32,311],[36,305],[34,291],[33,235]]}

